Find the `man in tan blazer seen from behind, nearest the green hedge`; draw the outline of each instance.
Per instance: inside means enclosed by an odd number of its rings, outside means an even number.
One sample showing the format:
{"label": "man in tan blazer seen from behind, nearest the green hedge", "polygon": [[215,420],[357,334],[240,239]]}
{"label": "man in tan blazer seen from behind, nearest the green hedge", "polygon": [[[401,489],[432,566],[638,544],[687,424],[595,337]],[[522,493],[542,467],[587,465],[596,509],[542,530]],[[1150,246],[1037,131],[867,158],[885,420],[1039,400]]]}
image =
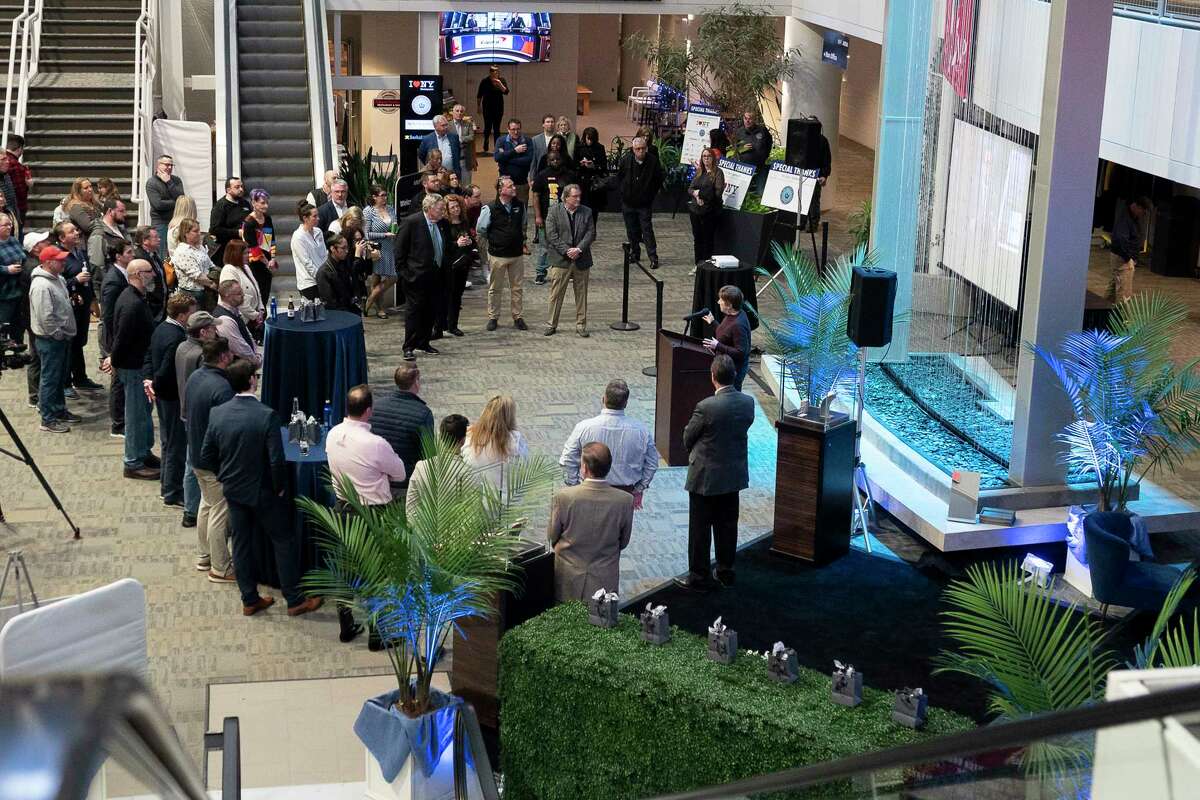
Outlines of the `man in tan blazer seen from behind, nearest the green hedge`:
{"label": "man in tan blazer seen from behind, nearest the green hedge", "polygon": [[620,552],[634,529],[634,495],[608,486],[612,453],[599,441],[583,445],[583,482],[554,495],[546,537],[554,548],[554,599],[617,591]]}

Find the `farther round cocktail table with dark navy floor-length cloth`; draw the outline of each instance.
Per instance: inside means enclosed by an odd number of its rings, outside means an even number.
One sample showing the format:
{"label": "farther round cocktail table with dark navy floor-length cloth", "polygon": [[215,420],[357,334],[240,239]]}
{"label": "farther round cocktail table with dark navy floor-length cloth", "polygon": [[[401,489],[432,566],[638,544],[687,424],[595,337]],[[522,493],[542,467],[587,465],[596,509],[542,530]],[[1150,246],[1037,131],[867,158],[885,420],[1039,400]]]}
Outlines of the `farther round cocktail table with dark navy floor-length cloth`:
{"label": "farther round cocktail table with dark navy floor-length cloth", "polygon": [[280,314],[266,320],[263,344],[263,402],[280,419],[292,417],[292,398],[322,421],[330,401],[337,425],[346,415],[346,392],[367,381],[367,348],[362,319],[344,311],[325,311],[319,323],[301,323]]}

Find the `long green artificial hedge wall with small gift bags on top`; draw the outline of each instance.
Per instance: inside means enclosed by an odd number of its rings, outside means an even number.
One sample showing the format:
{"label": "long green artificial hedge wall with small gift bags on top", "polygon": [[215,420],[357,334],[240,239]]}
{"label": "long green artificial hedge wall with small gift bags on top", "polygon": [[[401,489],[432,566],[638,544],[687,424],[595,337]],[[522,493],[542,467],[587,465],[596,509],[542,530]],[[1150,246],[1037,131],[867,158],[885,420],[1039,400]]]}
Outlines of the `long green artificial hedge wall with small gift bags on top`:
{"label": "long green artificial hedge wall with small gift bags on top", "polygon": [[701,637],[673,628],[655,646],[640,630],[630,614],[594,627],[582,603],[568,603],[505,634],[505,800],[648,798],[973,727],[931,709],[923,730],[902,728],[889,692],[864,688],[850,709],[830,702],[828,673],[802,667],[784,685],[761,656],[743,651],[726,667],[706,657]]}

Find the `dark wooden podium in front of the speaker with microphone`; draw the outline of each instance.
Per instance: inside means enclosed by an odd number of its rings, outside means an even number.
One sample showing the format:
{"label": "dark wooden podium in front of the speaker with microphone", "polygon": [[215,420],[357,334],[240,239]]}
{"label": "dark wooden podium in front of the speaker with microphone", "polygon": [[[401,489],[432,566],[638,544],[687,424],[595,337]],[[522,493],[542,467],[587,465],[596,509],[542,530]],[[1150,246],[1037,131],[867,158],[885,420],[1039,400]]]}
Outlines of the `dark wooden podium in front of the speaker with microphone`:
{"label": "dark wooden podium in front of the speaker with microphone", "polygon": [[654,443],[668,467],[684,467],[683,429],[696,403],[713,393],[713,354],[697,338],[659,330],[655,363]]}

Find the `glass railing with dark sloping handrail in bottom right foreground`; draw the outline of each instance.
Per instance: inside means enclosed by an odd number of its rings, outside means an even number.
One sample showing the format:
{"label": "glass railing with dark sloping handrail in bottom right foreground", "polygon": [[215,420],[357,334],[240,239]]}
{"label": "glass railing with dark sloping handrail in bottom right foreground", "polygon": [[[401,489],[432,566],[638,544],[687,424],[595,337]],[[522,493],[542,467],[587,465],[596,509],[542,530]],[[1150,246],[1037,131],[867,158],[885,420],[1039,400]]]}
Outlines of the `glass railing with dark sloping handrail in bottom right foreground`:
{"label": "glass railing with dark sloping handrail in bottom right foreground", "polygon": [[1200,682],[1146,682],[1138,693],[659,800],[1198,796]]}

